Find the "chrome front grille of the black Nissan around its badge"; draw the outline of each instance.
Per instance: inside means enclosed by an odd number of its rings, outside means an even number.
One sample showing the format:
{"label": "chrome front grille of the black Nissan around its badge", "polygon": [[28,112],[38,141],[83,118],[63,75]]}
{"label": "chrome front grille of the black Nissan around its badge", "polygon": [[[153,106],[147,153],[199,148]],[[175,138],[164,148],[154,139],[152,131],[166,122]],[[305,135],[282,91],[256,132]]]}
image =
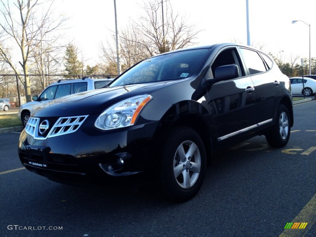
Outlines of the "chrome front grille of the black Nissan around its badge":
{"label": "chrome front grille of the black Nissan around its badge", "polygon": [[77,131],[87,117],[88,115],[60,117],[54,123],[52,129],[47,129],[46,136],[45,133],[43,134],[44,136],[39,134],[40,120],[42,121],[43,119],[31,117],[27,122],[25,131],[35,139],[45,140],[49,137],[61,136]]}

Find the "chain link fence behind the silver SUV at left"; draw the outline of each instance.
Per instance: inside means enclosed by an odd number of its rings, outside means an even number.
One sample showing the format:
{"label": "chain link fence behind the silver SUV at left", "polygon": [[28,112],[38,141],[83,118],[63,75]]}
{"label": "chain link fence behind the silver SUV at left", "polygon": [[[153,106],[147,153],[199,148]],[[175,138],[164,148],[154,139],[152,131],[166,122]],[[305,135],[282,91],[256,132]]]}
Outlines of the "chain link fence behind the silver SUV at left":
{"label": "chain link fence behind the silver SUV at left", "polygon": [[[23,74],[19,74],[24,81]],[[0,99],[8,101],[11,107],[19,107],[27,102],[25,87],[17,74],[0,74]],[[36,75],[29,74],[31,96],[38,95],[48,85],[62,79],[115,78],[117,75]]]}

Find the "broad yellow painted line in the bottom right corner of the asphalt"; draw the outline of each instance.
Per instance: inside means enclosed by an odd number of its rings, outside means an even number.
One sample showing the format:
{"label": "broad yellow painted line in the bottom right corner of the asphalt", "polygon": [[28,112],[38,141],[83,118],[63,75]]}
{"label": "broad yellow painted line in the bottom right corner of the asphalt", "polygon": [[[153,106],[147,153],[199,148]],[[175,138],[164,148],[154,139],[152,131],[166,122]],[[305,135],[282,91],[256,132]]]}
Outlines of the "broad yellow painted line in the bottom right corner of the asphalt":
{"label": "broad yellow painted line in the bottom right corner of the asphalt", "polygon": [[[305,236],[308,230],[314,225],[316,225],[316,194],[312,199],[306,204],[306,206],[301,210],[301,212],[294,218],[291,222],[305,222],[307,223],[305,229],[285,229],[279,237],[298,237]],[[284,220],[288,222],[288,220]],[[282,228],[282,227],[280,227]]]}

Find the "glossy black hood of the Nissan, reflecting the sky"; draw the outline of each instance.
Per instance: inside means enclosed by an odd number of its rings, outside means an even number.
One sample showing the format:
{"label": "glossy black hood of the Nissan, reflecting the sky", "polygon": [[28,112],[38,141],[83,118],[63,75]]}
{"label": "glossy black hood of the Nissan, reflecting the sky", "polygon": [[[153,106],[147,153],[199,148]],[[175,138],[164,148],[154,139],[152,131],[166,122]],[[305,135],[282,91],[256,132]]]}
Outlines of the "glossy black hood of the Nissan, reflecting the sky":
{"label": "glossy black hood of the Nissan, reflecting the sky", "polygon": [[152,91],[170,83],[175,82],[125,85],[72,94],[40,106],[32,116],[63,117],[101,113],[121,100],[136,95],[150,94]]}

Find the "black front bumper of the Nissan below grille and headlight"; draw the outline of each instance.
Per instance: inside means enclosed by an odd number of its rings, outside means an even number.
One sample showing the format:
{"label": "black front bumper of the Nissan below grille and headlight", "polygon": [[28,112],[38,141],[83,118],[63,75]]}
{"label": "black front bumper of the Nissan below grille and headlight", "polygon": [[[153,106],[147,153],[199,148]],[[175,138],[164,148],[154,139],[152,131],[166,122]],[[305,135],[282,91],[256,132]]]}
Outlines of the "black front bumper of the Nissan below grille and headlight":
{"label": "black front bumper of the Nissan below grille and headlight", "polygon": [[158,122],[100,131],[88,127],[94,119],[89,117],[77,131],[45,140],[23,130],[18,148],[21,163],[61,183],[106,182],[105,178],[149,170]]}

